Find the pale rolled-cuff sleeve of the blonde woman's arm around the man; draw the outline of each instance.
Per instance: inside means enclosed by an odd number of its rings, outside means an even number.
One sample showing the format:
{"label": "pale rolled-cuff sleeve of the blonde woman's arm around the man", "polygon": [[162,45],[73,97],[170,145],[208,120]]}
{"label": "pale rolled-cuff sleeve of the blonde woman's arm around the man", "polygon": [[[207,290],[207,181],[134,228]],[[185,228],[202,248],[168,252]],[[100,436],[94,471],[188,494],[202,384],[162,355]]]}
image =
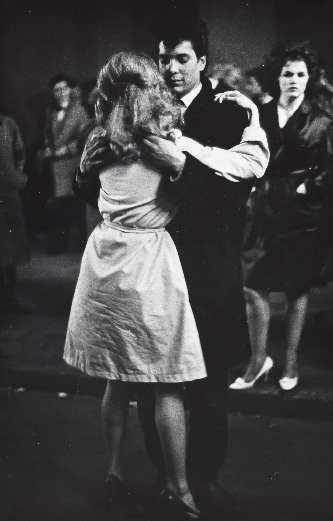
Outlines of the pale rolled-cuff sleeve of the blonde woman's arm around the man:
{"label": "pale rolled-cuff sleeve of the blonde woman's arm around the man", "polygon": [[230,150],[203,146],[185,136],[176,139],[176,145],[229,181],[262,177],[269,160],[266,134],[260,127],[246,127],[240,144]]}

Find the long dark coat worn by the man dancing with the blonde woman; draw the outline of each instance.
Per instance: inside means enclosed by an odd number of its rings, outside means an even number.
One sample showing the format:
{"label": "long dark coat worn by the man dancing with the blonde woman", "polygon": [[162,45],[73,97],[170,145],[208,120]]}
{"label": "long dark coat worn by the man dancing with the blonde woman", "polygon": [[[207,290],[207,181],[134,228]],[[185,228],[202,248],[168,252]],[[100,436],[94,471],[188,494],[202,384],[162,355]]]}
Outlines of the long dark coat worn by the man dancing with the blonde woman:
{"label": "long dark coat worn by the man dancing with the blonde woman", "polygon": [[[220,148],[239,144],[248,125],[245,110],[230,102],[214,102],[205,77],[184,120],[184,135]],[[90,203],[97,195],[97,179],[86,189],[80,183]],[[168,231],[177,246],[211,376],[218,377],[221,370],[250,353],[240,253],[252,184],[228,181],[187,154],[182,175],[170,187],[184,204]]]}

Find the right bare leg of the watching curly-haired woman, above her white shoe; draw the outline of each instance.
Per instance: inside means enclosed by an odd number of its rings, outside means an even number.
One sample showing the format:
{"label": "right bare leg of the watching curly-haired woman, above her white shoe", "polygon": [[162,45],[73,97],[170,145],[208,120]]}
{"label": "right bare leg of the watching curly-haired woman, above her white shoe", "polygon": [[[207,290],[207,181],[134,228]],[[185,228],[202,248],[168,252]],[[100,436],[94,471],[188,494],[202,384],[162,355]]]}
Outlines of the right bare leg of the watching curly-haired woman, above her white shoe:
{"label": "right bare leg of the watching curly-haired woman, above her white shoe", "polygon": [[294,378],[298,374],[297,351],[304,326],[308,294],[305,293],[297,299],[288,296],[288,325],[287,325],[287,351],[283,377]]}

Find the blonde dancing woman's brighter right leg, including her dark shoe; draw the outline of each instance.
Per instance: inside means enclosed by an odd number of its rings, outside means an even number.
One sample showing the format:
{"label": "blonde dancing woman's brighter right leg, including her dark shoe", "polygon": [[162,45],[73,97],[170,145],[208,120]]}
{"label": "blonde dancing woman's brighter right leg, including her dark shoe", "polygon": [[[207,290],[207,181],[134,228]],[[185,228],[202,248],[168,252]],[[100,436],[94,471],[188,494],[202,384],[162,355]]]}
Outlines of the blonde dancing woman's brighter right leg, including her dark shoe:
{"label": "blonde dancing woman's brighter right leg, including her dark shoe", "polygon": [[186,477],[186,418],[182,386],[156,383],[154,389],[155,420],[165,458],[168,487],[185,504],[198,511]]}

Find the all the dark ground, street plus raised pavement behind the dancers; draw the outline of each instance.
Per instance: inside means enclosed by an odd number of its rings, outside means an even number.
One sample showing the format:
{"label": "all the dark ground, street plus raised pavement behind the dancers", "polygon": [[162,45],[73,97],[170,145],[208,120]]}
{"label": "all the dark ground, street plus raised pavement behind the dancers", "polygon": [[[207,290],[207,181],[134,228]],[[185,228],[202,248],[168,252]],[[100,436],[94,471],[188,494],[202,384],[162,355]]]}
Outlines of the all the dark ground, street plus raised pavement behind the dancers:
{"label": "all the dark ground, street plus raised pavement behind the dancers", "polygon": [[[19,268],[17,294],[26,308],[7,315],[1,326],[3,385],[36,389],[0,390],[4,468],[0,515],[4,521],[128,518],[126,509],[105,505],[100,398],[77,392],[96,394],[96,382],[92,386],[91,380],[62,359],[80,257],[34,251],[30,264]],[[272,295],[272,308],[269,354],[277,369],[269,384],[230,394],[231,411],[248,415],[230,415],[229,453],[220,481],[239,501],[239,515],[244,519],[332,519],[333,285],[311,291],[300,348],[300,385],[284,398],[274,381],[283,359],[282,295]],[[97,384],[97,394],[101,394],[105,382]],[[72,394],[60,399],[41,389]],[[126,466],[134,497],[145,494],[154,469],[134,408],[130,410]],[[244,511],[246,516],[241,515]]]}

